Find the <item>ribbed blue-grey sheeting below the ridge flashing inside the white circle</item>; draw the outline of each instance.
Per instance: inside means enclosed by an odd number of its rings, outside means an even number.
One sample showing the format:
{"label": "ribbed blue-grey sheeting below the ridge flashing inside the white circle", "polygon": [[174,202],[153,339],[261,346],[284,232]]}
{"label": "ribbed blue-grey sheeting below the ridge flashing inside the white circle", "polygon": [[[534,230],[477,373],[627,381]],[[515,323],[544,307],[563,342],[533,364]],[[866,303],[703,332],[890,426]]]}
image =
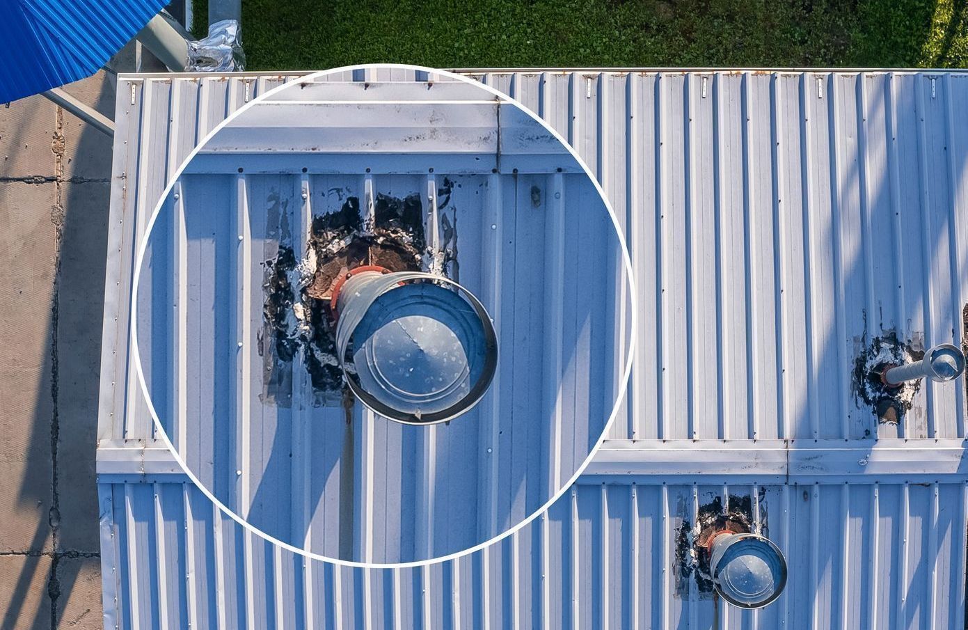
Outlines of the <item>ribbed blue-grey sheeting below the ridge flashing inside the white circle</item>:
{"label": "ribbed blue-grey sheeting below the ridge flashing inside the white circle", "polygon": [[[256,162],[264,165],[265,160]],[[251,161],[238,164],[252,170]],[[520,522],[584,463],[602,434],[616,388],[604,357],[610,345],[600,336],[605,310],[595,313],[593,307],[603,303],[597,296],[610,290],[600,282],[608,273],[608,256],[595,256],[579,269],[579,249],[593,242],[604,250],[611,242],[618,252],[615,230],[600,205],[597,217],[593,210],[576,213],[583,219],[568,228],[570,238],[548,244],[571,261],[565,270],[571,272],[570,289],[561,287],[563,299],[582,303],[579,286],[590,286],[591,308],[581,315],[569,311],[572,320],[557,333],[548,331],[546,344],[545,320],[554,320],[565,302],[555,303],[546,290],[555,282],[541,272],[548,213],[532,207],[532,191],[548,199],[557,195],[583,210],[594,208],[597,194],[584,174],[488,171],[486,176],[455,175],[438,167],[430,180],[426,173],[362,172],[305,177],[199,173],[179,179],[173,189],[178,201],[166,207],[148,241],[138,296],[141,356],[168,436],[205,487],[250,523],[329,557],[426,559],[462,551]],[[445,179],[453,191],[440,212],[454,215],[460,234],[460,282],[485,301],[500,330],[499,375],[481,405],[448,425],[408,427],[361,405],[352,406],[350,420],[339,400],[303,406],[296,402],[295,385],[290,404],[270,403],[265,392],[273,386],[263,378],[262,353],[253,350],[245,366],[252,379],[250,396],[240,404],[248,413],[239,412],[232,391],[241,366],[232,363],[236,353],[228,347],[235,345],[228,341],[235,329],[232,321],[242,308],[240,316],[250,317],[251,325],[248,336],[239,339],[254,348],[270,343],[271,331],[263,326],[265,261],[275,260],[280,248],[293,247],[300,238],[301,192],[306,191],[314,216],[339,211],[347,197],[403,198],[415,191],[423,192],[427,208],[428,186],[436,192]],[[248,305],[237,305],[223,292],[238,282],[230,272],[236,238],[227,218],[235,199],[251,209]],[[165,219],[175,209],[185,231],[180,263],[179,256],[171,257],[171,225]],[[174,273],[177,264],[181,271]],[[515,280],[494,282],[499,278]],[[582,278],[588,280],[577,280]],[[173,292],[178,286],[182,293]],[[175,311],[159,304],[186,305],[181,359],[172,357],[179,345],[166,334],[175,325]],[[583,330],[593,333],[584,337]],[[569,379],[570,394],[556,415],[555,405],[547,402],[554,399],[558,380],[549,381],[542,366],[545,358],[559,353],[570,366],[562,375]],[[292,383],[302,370],[302,365],[292,366]],[[576,373],[588,376],[577,378]],[[546,391],[548,383],[555,389]],[[311,400],[313,393],[301,396]],[[174,405],[182,406],[176,412]],[[233,413],[235,421],[227,421]],[[560,425],[552,426],[546,417],[559,418]]]}

